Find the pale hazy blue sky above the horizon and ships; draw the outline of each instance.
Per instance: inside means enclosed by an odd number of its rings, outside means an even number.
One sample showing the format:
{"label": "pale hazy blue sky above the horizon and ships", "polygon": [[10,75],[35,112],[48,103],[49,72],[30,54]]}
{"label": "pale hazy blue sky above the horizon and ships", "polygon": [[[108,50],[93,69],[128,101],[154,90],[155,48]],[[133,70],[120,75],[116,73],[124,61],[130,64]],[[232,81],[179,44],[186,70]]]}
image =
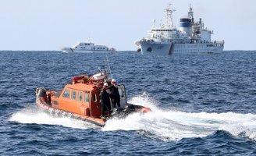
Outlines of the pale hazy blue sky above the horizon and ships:
{"label": "pale hazy blue sky above the horizon and ships", "polygon": [[176,27],[191,3],[224,50],[256,50],[254,0],[0,0],[0,50],[60,50],[76,41],[136,50],[169,3]]}

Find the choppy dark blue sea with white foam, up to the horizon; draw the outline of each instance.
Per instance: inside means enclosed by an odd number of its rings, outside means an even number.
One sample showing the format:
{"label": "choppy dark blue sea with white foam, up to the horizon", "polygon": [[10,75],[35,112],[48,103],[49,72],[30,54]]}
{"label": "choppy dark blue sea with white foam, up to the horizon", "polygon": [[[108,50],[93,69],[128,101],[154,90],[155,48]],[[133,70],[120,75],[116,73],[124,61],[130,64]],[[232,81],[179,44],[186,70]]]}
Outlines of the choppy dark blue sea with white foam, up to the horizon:
{"label": "choppy dark blue sea with white foam, up to the horizon", "polygon": [[[37,87],[62,89],[106,55],[128,102],[152,112],[101,128],[37,108]],[[256,51],[0,51],[0,84],[0,155],[256,155]]]}

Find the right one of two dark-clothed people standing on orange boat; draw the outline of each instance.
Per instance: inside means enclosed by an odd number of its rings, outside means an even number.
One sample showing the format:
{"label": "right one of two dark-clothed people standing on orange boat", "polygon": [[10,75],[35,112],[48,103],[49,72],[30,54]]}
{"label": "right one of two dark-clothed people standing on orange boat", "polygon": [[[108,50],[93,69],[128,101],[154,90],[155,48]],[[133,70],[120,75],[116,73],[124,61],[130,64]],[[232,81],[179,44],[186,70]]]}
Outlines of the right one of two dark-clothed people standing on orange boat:
{"label": "right one of two dark-clothed people standing on orange boat", "polygon": [[110,90],[110,97],[112,99],[112,105],[114,106],[114,108],[120,107],[120,94],[119,94],[119,90],[118,90],[118,85],[117,85],[115,79],[112,79],[111,83],[112,83],[112,85],[110,87],[108,87],[108,89]]}

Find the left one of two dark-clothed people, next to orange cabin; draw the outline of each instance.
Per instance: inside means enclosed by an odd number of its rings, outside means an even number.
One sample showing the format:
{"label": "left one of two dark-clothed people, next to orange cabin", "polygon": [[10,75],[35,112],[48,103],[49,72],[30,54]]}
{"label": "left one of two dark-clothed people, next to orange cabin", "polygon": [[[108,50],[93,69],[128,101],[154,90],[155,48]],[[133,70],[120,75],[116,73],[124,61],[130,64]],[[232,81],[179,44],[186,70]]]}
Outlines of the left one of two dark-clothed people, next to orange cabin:
{"label": "left one of two dark-clothed people, next to orange cabin", "polygon": [[104,117],[104,112],[106,111],[108,111],[108,115],[111,115],[110,99],[107,89],[108,83],[104,83],[101,90],[101,117]]}

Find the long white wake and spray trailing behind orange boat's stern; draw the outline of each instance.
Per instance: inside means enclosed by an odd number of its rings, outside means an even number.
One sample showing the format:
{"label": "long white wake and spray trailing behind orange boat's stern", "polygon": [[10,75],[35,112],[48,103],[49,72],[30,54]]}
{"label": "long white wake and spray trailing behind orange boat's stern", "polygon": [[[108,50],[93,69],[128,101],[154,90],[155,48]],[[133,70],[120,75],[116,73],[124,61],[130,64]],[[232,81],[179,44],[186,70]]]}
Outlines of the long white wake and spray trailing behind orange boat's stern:
{"label": "long white wake and spray trailing behind orange boat's stern", "polygon": [[133,97],[130,103],[147,106],[152,112],[108,120],[103,130],[141,130],[162,140],[205,137],[216,130],[225,130],[236,137],[256,140],[256,115],[253,114],[163,111],[145,95]]}

